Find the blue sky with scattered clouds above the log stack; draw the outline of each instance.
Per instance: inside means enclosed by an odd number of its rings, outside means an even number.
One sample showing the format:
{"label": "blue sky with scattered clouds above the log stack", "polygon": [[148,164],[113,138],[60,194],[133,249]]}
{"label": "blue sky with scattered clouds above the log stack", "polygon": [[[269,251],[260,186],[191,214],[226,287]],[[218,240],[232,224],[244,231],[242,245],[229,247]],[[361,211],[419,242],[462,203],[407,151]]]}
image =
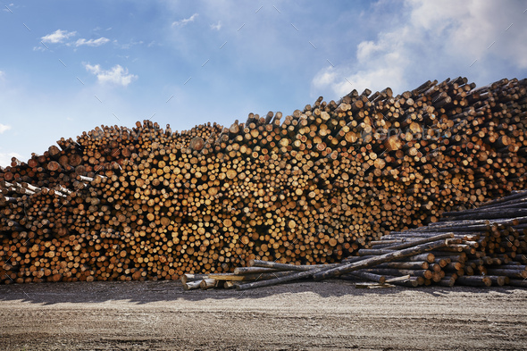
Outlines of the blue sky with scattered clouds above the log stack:
{"label": "blue sky with scattered clouds above the log stack", "polygon": [[0,33],[0,166],[101,125],[527,78],[527,1],[0,0]]}

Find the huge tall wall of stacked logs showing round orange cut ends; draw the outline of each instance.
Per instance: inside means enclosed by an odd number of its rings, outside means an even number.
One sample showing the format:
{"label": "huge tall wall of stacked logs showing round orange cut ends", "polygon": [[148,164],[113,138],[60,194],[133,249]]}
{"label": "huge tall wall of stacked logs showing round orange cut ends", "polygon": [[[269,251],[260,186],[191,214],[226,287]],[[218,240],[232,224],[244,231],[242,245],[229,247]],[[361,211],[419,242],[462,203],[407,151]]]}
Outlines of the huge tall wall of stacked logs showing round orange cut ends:
{"label": "huge tall wall of stacked logs showing round orange cut ends", "polygon": [[527,80],[428,81],[188,131],[61,139],[0,170],[0,281],[336,263],[526,186]]}

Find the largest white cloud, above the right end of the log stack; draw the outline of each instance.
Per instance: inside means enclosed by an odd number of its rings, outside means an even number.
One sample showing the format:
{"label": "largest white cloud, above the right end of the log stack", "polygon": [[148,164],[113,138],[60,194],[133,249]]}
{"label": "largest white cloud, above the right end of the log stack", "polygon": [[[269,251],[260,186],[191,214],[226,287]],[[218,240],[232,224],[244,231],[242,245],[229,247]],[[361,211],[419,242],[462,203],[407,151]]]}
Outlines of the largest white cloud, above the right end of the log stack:
{"label": "largest white cloud, above the right end of the log stack", "polygon": [[[407,20],[361,42],[353,62],[315,74],[314,93],[344,96],[354,88],[386,87],[399,92],[414,88],[416,81],[460,74],[487,81],[497,63],[527,68],[522,36],[527,23],[519,17],[524,10],[519,3],[406,0],[403,8]],[[517,28],[507,29],[513,22]],[[480,66],[470,67],[475,59]]]}

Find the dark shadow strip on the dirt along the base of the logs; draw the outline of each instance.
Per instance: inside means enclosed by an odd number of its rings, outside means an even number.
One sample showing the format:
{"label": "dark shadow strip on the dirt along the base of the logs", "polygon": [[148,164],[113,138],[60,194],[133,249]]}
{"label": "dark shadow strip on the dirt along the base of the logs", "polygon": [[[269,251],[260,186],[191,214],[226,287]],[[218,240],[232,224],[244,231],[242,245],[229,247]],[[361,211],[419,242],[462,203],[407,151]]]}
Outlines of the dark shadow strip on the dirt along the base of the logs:
{"label": "dark shadow strip on the dirt along the base of the logs", "polygon": [[74,283],[13,284],[0,286],[0,301],[24,301],[34,304],[103,303],[128,300],[132,303],[147,304],[160,301],[202,301],[205,299],[247,299],[272,295],[316,294],[320,297],[364,296],[406,294],[408,290],[419,291],[432,296],[448,296],[451,292],[493,291],[498,295],[510,294],[513,287],[468,288],[468,287],[422,287],[422,288],[355,288],[352,281],[326,280],[301,281],[275,287],[255,288],[246,291],[210,289],[187,291],[180,281],[94,281]]}

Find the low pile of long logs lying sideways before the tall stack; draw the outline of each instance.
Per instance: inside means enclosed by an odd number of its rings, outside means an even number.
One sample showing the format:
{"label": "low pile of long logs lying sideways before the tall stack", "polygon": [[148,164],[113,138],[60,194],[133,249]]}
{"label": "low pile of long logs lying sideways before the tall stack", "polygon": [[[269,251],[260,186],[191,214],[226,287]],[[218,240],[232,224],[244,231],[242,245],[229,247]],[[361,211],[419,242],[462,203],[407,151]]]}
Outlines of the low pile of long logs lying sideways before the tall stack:
{"label": "low pile of long logs lying sideways before the tall stack", "polygon": [[527,191],[472,210],[444,213],[437,223],[392,232],[340,264],[295,265],[253,260],[233,273],[185,274],[184,288],[258,288],[327,278],[405,287],[437,284],[527,288]]}

